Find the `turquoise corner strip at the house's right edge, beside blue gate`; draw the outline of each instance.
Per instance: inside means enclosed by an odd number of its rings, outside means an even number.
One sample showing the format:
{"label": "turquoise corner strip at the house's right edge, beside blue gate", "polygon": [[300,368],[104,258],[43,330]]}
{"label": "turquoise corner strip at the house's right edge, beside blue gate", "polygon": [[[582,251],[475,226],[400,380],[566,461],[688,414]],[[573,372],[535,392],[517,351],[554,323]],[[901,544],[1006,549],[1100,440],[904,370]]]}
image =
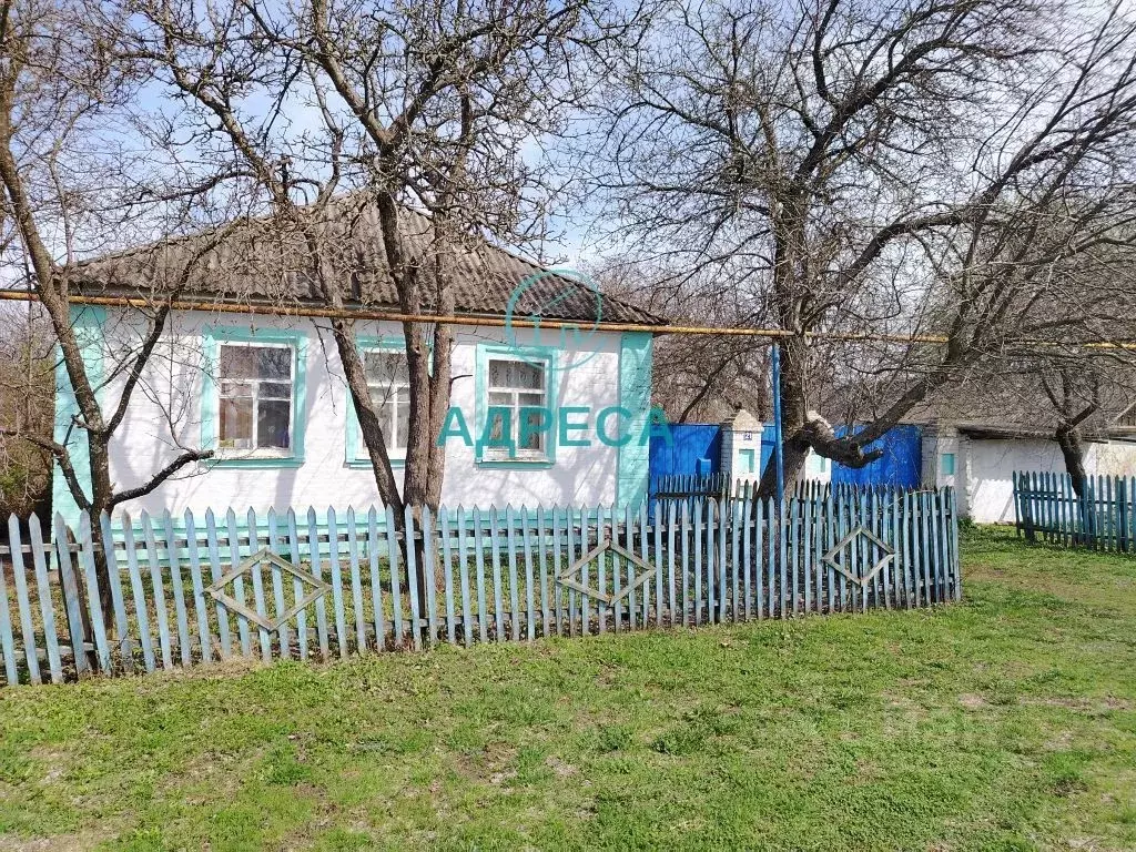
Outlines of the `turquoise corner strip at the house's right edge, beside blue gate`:
{"label": "turquoise corner strip at the house's right edge, beside blue gate", "polygon": [[650,332],[625,332],[619,339],[619,404],[633,412],[627,433],[636,436],[619,448],[616,467],[616,504],[633,509],[646,500],[651,448],[643,434],[651,412],[651,359],[654,337]]}

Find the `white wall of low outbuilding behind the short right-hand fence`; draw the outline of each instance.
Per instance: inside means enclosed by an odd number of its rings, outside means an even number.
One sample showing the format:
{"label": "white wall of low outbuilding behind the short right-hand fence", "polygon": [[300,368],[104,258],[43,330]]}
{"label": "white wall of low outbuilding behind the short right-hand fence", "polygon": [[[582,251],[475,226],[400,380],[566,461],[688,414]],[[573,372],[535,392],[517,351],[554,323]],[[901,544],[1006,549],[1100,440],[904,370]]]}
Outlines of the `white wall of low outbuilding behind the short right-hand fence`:
{"label": "white wall of low outbuilding behind the short right-hand fence", "polygon": [[[944,473],[943,457],[954,456],[954,475]],[[1136,475],[1136,444],[1092,442],[1085,456],[1091,475]],[[939,427],[924,435],[924,483],[954,486],[959,510],[978,524],[1012,524],[1013,474],[1022,470],[1066,473],[1055,441],[1045,438],[988,438],[958,434]]]}

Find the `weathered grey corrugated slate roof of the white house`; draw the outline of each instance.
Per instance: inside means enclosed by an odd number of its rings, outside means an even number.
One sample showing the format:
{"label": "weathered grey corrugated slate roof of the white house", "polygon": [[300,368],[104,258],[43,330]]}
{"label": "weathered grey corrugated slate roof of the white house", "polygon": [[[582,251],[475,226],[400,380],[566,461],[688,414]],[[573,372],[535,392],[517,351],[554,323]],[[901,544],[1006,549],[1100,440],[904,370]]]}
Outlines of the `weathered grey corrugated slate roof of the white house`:
{"label": "weathered grey corrugated slate roof of the white house", "polygon": [[[433,236],[428,217],[404,209],[400,229],[412,258],[420,259]],[[328,207],[321,244],[349,307],[398,310],[399,299],[382,251],[373,206],[346,195]],[[456,310],[462,315],[504,316],[513,293],[518,317],[541,316],[584,323],[666,325],[628,302],[602,294],[585,279],[551,272],[484,240],[467,239],[453,249]],[[191,272],[182,276],[189,261]],[[239,303],[323,303],[315,265],[301,234],[278,223],[252,219],[187,237],[177,237],[76,264],[74,281],[83,295],[160,296]],[[426,265],[419,268],[425,311],[436,310]],[[524,286],[521,286],[524,285]]]}

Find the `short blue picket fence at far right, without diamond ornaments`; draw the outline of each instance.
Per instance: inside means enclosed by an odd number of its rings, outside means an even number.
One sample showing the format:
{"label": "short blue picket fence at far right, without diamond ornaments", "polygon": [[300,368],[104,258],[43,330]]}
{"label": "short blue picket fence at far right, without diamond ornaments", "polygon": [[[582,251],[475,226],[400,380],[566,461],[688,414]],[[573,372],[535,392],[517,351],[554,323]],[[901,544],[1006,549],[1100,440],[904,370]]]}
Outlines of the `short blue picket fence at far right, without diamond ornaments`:
{"label": "short blue picket fence at far right, without diamond ornaments", "polygon": [[1069,474],[1013,475],[1014,526],[1034,542],[1136,551],[1136,477],[1089,476],[1078,496]]}

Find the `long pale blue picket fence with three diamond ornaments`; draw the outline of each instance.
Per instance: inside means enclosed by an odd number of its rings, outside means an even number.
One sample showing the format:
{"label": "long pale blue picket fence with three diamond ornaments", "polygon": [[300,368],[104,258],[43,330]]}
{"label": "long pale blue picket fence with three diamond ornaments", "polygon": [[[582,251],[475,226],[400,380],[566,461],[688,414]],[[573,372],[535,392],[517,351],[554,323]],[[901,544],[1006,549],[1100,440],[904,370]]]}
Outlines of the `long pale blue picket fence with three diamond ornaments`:
{"label": "long pale blue picket fence with three diamond ornaments", "polygon": [[459,508],[396,525],[389,509],[309,509],[99,523],[101,551],[86,515],[77,531],[57,517],[53,535],[9,521],[0,683],[925,607],[961,592],[949,490],[795,494],[780,512],[747,495],[653,516]]}

